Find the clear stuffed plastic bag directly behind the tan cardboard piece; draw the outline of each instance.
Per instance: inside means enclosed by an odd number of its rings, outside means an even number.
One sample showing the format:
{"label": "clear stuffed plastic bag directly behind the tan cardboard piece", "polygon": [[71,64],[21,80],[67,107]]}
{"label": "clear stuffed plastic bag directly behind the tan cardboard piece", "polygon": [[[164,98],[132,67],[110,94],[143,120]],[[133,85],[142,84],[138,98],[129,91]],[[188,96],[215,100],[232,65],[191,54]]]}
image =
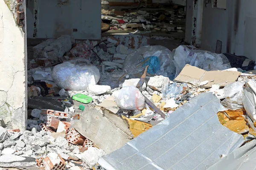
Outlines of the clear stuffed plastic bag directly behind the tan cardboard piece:
{"label": "clear stuffed plastic bag directly behind the tan cardboard piece", "polygon": [[172,52],[176,66],[177,77],[186,64],[201,68],[205,71],[225,70],[231,68],[230,62],[223,54],[216,54],[209,51],[190,49],[186,45],[180,45]]}

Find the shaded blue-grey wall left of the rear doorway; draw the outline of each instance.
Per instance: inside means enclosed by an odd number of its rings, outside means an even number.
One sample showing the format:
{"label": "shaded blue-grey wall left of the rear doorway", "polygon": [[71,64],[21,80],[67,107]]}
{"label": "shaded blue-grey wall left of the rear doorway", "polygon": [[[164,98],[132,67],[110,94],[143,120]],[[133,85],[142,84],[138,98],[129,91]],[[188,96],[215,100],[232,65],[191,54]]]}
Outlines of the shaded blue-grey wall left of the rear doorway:
{"label": "shaded blue-grey wall left of the rear doorway", "polygon": [[27,37],[101,38],[101,0],[28,0]]}

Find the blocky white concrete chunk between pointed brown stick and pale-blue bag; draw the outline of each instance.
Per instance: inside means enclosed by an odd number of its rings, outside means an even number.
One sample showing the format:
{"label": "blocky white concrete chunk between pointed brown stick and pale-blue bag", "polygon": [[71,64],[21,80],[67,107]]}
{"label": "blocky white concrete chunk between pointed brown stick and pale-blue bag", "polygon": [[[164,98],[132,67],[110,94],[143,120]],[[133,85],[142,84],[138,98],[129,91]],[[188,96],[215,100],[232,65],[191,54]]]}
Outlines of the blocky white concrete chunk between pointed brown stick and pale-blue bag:
{"label": "blocky white concrete chunk between pointed brown stick and pale-blue bag", "polygon": [[163,76],[150,77],[148,81],[148,87],[160,91],[163,91],[163,88],[169,85],[169,78]]}

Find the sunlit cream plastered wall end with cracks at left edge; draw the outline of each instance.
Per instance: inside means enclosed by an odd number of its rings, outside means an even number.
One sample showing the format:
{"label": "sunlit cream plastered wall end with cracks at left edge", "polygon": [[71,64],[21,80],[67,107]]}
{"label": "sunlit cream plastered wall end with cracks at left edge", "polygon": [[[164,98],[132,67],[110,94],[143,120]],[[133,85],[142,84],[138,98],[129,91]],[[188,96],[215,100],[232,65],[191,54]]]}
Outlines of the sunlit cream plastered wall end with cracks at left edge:
{"label": "sunlit cream plastered wall end with cracks at left edge", "polygon": [[16,23],[15,3],[0,0],[0,118],[3,127],[25,130],[26,40],[25,28]]}

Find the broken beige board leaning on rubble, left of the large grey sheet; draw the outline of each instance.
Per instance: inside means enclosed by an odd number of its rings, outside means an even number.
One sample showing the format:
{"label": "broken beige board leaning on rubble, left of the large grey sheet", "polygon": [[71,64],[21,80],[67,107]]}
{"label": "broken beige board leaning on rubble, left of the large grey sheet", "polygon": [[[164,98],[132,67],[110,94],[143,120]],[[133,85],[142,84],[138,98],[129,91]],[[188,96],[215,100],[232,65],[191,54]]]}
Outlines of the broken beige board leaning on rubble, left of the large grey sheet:
{"label": "broken beige board leaning on rubble, left of the large grey sheet", "polygon": [[106,153],[119,149],[133,139],[128,123],[118,115],[104,108],[84,107],[84,113],[74,127]]}

